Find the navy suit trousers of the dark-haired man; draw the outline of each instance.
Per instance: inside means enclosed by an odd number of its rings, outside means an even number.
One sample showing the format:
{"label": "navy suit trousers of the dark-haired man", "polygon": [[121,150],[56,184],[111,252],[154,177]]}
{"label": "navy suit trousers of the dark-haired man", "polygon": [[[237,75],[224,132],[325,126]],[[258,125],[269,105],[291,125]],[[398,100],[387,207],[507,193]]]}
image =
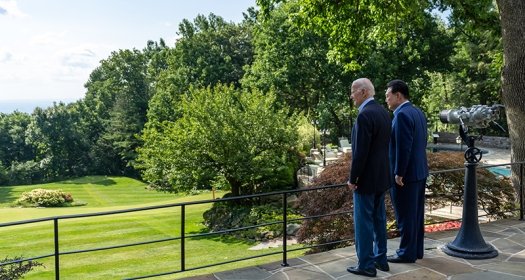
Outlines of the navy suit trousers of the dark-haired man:
{"label": "navy suit trousers of the dark-haired man", "polygon": [[390,189],[401,242],[397,255],[408,261],[423,258],[425,238],[426,180],[405,183]]}

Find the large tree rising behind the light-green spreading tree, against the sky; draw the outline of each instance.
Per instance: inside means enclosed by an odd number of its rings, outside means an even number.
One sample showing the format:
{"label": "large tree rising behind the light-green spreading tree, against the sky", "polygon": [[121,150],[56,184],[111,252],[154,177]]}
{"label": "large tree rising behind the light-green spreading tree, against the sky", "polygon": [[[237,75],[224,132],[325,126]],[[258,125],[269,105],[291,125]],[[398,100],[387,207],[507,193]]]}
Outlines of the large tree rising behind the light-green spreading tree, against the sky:
{"label": "large tree rising behind the light-green spreading tree, against the sky", "polygon": [[181,37],[166,57],[165,70],[158,74],[149,125],[159,126],[180,117],[178,103],[190,86],[240,86],[244,67],[253,59],[251,22],[247,19],[235,24],[214,14],[182,21],[178,31]]}

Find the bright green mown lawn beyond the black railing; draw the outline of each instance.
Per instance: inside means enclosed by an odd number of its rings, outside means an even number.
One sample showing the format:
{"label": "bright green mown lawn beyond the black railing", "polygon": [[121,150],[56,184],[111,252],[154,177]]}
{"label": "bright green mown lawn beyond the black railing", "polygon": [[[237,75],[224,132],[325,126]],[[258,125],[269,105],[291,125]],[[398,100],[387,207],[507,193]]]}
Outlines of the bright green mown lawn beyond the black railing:
{"label": "bright green mown lawn beyond the black railing", "polygon": [[[11,208],[23,192],[35,188],[61,189],[72,194],[86,206],[67,208]],[[223,193],[218,193],[220,196]],[[58,183],[0,187],[0,223],[60,215],[94,213],[117,209],[163,205],[211,199],[210,192],[194,196],[160,193],[146,188],[142,182],[123,177],[90,176]],[[186,207],[186,235],[203,232],[202,213],[210,204]],[[96,216],[59,221],[61,252],[116,246],[178,237],[181,234],[180,207]],[[0,228],[0,258],[6,256],[34,257],[52,254],[53,222]],[[104,251],[67,254],[60,257],[60,279],[122,279],[163,273],[180,269],[180,240],[153,243]],[[248,250],[254,243],[225,237],[202,237],[186,240],[186,269],[231,259],[278,252],[281,248],[263,251]],[[294,252],[289,257],[300,254]],[[228,270],[240,266],[280,261],[281,255],[257,258],[240,263],[174,274],[155,279],[176,279]],[[54,279],[54,258],[39,260],[45,268],[37,268],[25,279]]]}

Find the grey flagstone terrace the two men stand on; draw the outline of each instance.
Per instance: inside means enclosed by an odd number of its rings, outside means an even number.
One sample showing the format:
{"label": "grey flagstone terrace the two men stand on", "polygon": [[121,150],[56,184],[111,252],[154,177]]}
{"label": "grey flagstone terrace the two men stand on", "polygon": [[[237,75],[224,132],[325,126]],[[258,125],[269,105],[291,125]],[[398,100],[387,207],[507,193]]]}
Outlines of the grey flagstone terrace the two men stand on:
{"label": "grey flagstone terrace the two men stand on", "polygon": [[[441,248],[455,239],[457,230],[434,232],[425,236],[425,257],[413,264],[390,264],[389,272],[377,271],[378,279],[452,279],[452,280],[517,280],[525,279],[525,221],[499,220],[480,225],[485,241],[499,255],[493,259],[466,260],[446,255]],[[399,238],[388,240],[393,253]],[[353,246],[324,253],[290,259],[288,267],[272,263],[213,275],[192,277],[192,280],[325,280],[370,279],[346,271],[357,262]]]}

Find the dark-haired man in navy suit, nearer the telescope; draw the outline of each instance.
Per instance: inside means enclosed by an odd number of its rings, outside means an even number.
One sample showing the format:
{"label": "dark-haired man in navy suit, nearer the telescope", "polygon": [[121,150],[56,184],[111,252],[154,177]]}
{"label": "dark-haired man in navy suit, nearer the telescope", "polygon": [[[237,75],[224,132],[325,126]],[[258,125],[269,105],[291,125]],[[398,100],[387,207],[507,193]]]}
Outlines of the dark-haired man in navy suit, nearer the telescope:
{"label": "dark-haired man in navy suit, nearer the telescope", "polygon": [[408,86],[401,80],[387,85],[386,103],[394,111],[390,138],[390,166],[394,186],[390,190],[401,243],[389,262],[413,263],[423,258],[427,120],[408,100]]}

